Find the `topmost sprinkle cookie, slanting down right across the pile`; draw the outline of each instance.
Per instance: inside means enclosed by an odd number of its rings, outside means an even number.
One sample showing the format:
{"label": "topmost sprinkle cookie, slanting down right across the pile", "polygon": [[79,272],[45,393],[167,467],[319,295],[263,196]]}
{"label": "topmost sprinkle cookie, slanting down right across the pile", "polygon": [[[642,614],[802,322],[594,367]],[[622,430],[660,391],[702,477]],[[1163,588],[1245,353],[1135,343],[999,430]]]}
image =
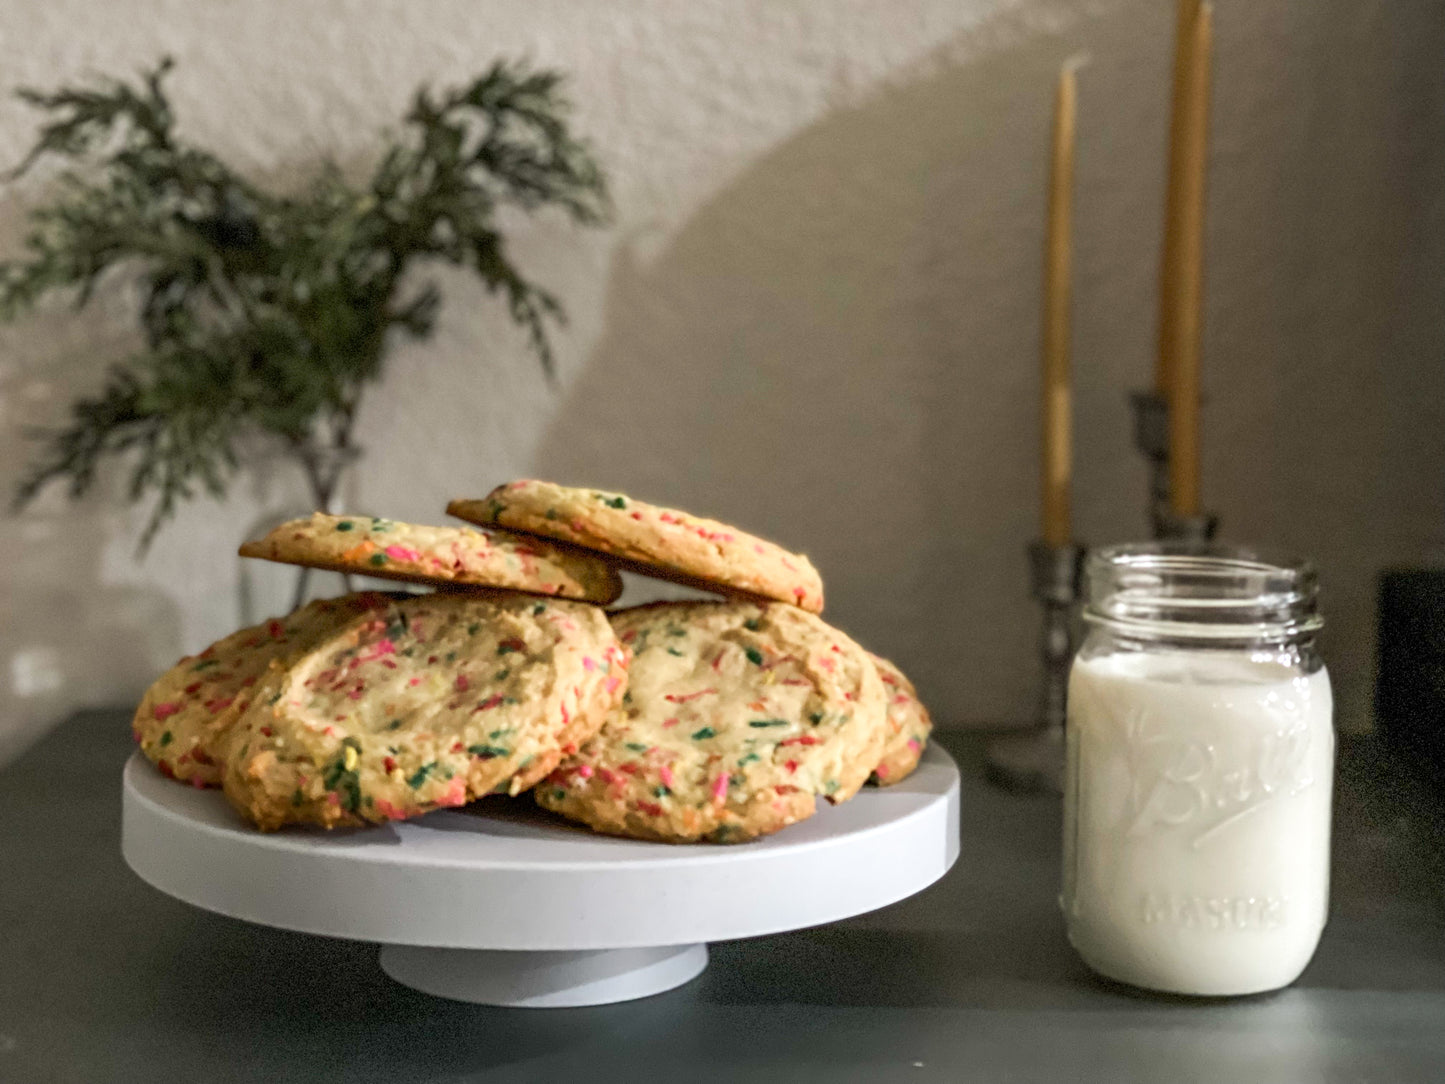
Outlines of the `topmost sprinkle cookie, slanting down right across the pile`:
{"label": "topmost sprinkle cookie, slanting down right across the pile", "polygon": [[621,493],[512,481],[481,500],[454,500],[447,512],[595,549],[646,575],[822,613],[822,580],[806,556],[715,519]]}

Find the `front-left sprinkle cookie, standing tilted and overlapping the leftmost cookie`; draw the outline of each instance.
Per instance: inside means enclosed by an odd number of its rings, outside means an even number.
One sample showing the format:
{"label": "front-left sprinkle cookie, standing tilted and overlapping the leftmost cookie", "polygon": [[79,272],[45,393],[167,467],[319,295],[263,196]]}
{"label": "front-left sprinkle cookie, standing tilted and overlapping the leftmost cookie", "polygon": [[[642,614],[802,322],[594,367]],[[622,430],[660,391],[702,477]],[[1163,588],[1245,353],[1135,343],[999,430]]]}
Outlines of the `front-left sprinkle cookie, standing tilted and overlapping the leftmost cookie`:
{"label": "front-left sprinkle cookie, standing tilted and overlapping the leftmost cookie", "polygon": [[627,652],[598,607],[416,595],[272,669],[228,736],[225,796],[270,830],[517,793],[594,734],[626,687]]}

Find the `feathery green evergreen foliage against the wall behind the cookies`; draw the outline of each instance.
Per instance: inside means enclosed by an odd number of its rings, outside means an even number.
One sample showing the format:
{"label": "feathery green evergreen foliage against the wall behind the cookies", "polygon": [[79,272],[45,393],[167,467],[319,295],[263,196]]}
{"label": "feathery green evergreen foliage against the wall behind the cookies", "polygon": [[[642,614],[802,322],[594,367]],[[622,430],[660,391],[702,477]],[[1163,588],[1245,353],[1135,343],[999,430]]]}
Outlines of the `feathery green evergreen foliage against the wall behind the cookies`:
{"label": "feathery green evergreen foliage against the wall behind the cookies", "polygon": [[500,296],[552,374],[548,328],[562,309],[509,259],[499,212],[605,217],[601,172],[568,127],[555,72],[499,62],[458,90],[422,88],[370,176],[325,163],[279,194],[178,134],[171,66],[20,91],[48,123],[9,179],[46,159],[64,168],[30,214],[25,254],[0,262],[0,318],[53,292],[84,306],[108,272],[129,270],[143,347],[64,428],[38,434],[17,506],[58,480],[81,496],[101,460],[127,455],[130,499],[153,497],[144,546],[198,486],[223,496],[238,441],[259,432],[296,457],[324,507],[389,343],[435,325],[441,296],[416,275],[432,260]]}

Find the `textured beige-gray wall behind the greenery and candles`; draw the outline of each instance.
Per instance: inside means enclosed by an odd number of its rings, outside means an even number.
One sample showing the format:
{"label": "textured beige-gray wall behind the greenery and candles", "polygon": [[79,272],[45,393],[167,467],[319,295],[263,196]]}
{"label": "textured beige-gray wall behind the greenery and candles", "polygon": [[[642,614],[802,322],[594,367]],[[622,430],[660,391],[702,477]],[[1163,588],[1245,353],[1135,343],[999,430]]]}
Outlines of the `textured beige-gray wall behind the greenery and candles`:
{"label": "textured beige-gray wall behind the greenery and candles", "polygon": [[[1150,379],[1173,4],[1163,0],[12,0],[0,82],[181,62],[182,123],[288,179],[363,162],[422,79],[499,53],[574,74],[617,225],[517,224],[572,311],[548,389],[448,279],[438,335],[366,413],[367,510],[439,519],[519,474],[633,490],[808,551],[829,617],[945,723],[1025,720],[1036,614],[1036,356],[1053,78],[1081,74],[1079,533],[1144,530],[1124,396]],[[1341,721],[1367,721],[1373,578],[1438,554],[1445,447],[1445,9],[1217,0],[1207,503],[1318,558]],[[0,160],[33,117],[0,104]],[[43,178],[0,199],[10,249]],[[0,328],[0,484],[130,341],[117,292]],[[143,564],[140,516],[58,494],[0,520],[0,752],[123,700],[236,621],[238,536],[301,497],[257,460]]]}

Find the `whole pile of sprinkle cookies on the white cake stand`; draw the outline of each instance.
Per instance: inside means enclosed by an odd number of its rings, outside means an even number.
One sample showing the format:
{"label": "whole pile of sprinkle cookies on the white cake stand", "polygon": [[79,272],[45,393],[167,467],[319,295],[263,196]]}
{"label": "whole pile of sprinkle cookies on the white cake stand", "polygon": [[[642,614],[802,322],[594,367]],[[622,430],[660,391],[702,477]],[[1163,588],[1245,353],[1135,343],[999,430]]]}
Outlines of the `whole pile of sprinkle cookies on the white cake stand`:
{"label": "whole pile of sprinkle cookies on the white cake stand", "polygon": [[[169,778],[259,828],[520,795],[597,831],[738,843],[913,770],[928,713],[829,626],[806,558],[620,493],[514,481],[448,513],[283,523],[243,556],[435,588],[309,603],[178,662],[136,711]],[[643,572],[725,597],[608,613]]]}

